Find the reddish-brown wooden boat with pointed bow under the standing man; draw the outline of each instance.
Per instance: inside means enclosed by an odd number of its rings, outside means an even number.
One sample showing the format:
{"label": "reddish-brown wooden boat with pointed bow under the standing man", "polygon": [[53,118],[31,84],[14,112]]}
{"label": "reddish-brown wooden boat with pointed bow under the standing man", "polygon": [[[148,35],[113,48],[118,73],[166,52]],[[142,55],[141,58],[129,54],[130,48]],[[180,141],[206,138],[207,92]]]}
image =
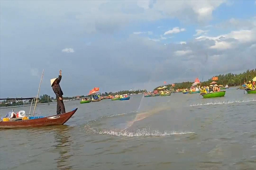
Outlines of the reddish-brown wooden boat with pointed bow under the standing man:
{"label": "reddish-brown wooden boat with pointed bow under the standing man", "polygon": [[66,123],[71,116],[77,111],[77,108],[68,113],[60,115],[48,116],[38,119],[28,120],[17,120],[15,121],[1,121],[0,128],[24,128],[24,127],[37,127],[37,126],[52,126],[52,125],[63,125]]}

